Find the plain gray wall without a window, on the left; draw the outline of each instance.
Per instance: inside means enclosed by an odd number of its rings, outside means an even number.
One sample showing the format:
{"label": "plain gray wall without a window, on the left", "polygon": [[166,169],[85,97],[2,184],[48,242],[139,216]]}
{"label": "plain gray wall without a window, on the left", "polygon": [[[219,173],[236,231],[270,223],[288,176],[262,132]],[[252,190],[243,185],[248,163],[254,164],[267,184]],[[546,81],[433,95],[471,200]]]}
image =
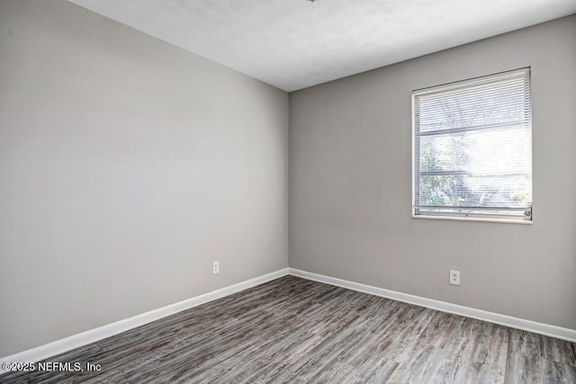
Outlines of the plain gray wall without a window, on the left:
{"label": "plain gray wall without a window, on the left", "polygon": [[288,94],[64,1],[0,55],[0,356],[287,266]]}

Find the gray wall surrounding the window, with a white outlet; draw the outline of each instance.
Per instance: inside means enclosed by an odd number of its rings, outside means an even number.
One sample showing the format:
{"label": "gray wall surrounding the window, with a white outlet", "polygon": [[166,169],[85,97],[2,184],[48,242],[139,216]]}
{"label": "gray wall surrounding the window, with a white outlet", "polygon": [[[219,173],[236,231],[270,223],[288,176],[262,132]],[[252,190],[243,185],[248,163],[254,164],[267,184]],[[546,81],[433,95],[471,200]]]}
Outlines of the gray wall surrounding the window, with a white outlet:
{"label": "gray wall surrounding the window, with a white outlet", "polygon": [[[411,91],[527,66],[534,224],[411,219]],[[290,266],[576,329],[575,143],[576,16],[290,94]]]}

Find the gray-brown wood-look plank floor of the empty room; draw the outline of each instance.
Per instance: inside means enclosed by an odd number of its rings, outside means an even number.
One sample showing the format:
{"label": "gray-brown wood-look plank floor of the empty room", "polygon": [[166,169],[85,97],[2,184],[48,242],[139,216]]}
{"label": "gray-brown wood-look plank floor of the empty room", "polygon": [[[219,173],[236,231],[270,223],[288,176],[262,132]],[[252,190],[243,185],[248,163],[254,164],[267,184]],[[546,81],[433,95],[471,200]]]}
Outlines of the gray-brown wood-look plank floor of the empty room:
{"label": "gray-brown wood-look plank floor of the empty room", "polygon": [[576,383],[576,344],[286,276],[0,382]]}

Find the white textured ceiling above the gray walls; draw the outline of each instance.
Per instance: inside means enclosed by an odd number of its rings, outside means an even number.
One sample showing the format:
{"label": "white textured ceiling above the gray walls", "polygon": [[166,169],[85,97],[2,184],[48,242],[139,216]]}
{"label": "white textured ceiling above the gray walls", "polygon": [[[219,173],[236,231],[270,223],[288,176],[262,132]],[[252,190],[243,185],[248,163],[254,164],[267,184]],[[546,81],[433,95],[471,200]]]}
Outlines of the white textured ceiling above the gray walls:
{"label": "white textured ceiling above the gray walls", "polygon": [[69,0],[294,91],[576,13],[576,0]]}

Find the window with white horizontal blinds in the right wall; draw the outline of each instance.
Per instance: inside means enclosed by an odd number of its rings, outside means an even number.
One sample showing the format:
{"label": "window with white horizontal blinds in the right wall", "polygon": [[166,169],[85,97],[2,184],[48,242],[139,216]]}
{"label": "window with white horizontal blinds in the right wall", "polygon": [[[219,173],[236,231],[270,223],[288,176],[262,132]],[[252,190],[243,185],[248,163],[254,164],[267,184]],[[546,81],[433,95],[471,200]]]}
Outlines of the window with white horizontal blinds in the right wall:
{"label": "window with white horizontal blinds in the right wall", "polygon": [[530,68],[412,92],[414,218],[532,220]]}

